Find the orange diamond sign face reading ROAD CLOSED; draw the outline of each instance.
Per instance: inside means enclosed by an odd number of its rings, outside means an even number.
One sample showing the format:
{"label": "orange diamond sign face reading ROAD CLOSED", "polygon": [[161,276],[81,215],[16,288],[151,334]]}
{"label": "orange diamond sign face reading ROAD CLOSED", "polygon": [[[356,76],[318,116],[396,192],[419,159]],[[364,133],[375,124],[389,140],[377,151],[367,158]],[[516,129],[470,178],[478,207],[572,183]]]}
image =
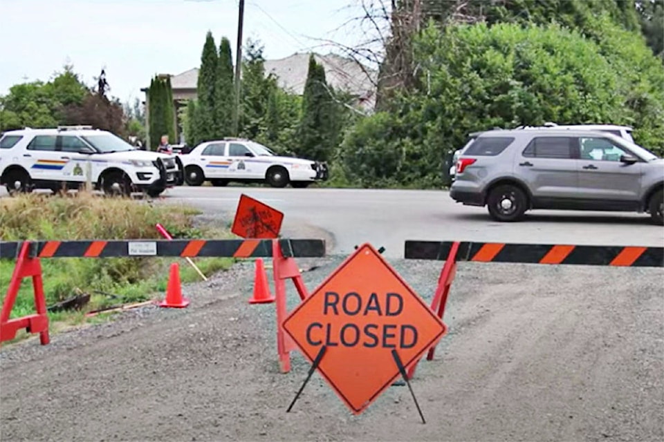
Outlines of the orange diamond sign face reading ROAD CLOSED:
{"label": "orange diamond sign face reading ROAD CLOSED", "polygon": [[369,244],[353,253],[284,321],[309,361],[353,414],[360,414],[447,328]]}

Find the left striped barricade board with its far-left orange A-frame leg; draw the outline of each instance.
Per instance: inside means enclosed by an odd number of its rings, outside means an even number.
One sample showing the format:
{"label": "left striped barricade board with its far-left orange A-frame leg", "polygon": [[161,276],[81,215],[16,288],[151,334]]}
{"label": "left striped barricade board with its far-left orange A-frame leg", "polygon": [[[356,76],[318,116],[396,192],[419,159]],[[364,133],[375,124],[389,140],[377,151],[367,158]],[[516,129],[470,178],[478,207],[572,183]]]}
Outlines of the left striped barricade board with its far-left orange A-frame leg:
{"label": "left striped barricade board with its far-left orange A-frame leg", "polygon": [[[19,329],[39,333],[48,344],[48,316],[42,284],[42,258],[318,258],[325,256],[324,240],[77,240],[0,241],[0,259],[16,260],[0,312],[0,343],[15,338]],[[33,278],[36,314],[10,319],[21,281]]]}

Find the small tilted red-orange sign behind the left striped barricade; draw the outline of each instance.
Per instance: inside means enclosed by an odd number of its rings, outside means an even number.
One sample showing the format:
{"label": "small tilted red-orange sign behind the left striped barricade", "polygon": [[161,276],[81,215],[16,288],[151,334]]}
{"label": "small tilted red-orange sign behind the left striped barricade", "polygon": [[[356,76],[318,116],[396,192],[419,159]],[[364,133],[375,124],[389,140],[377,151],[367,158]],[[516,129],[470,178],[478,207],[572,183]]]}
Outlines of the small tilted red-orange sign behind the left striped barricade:
{"label": "small tilted red-orange sign behind the left striped barricade", "polygon": [[284,213],[247,195],[240,196],[230,229],[241,238],[275,239],[282,229]]}

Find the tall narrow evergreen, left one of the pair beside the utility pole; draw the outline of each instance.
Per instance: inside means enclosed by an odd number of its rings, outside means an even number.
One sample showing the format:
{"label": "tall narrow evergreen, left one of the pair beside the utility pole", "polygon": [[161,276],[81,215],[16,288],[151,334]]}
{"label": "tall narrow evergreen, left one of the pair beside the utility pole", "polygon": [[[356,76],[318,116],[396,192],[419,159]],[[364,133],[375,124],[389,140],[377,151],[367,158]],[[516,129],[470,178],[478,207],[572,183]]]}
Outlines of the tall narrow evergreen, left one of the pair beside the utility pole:
{"label": "tall narrow evergreen, left one of the pair beside the utility pole", "polygon": [[216,79],[219,71],[219,56],[212,32],[208,31],[201,55],[201,68],[197,84],[196,114],[194,117],[194,131],[199,142],[214,140],[216,138]]}

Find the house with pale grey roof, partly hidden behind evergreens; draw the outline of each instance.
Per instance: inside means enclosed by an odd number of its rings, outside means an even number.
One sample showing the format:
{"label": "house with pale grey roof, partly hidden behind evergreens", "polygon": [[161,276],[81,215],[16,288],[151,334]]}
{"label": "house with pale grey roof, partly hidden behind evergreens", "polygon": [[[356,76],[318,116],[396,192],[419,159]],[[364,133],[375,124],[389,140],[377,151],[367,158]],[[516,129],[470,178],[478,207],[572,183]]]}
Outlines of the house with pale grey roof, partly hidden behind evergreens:
{"label": "house with pale grey roof, partly hidden behind evergreens", "polygon": [[[376,102],[376,81],[378,78],[376,70],[362,66],[353,59],[331,53],[328,55],[314,54],[314,57],[316,62],[321,64],[325,69],[325,77],[330,86],[335,90],[342,90],[355,96],[357,106],[367,110],[374,108]],[[274,74],[277,77],[277,84],[288,93],[296,95],[304,93],[304,84],[306,84],[306,75],[309,67],[308,53],[296,52],[286,58],[266,60],[264,66],[266,75],[270,73]],[[196,84],[199,78],[199,69],[192,68],[178,75],[169,76],[171,77],[173,99],[176,106],[178,142],[183,143],[182,125],[178,118],[178,110],[186,106],[187,100],[196,99]],[[148,115],[148,89],[141,89],[141,92],[145,93],[145,102],[143,104],[145,104],[146,116]],[[146,124],[149,124],[149,122],[146,121]],[[149,145],[149,140],[147,142]]]}

